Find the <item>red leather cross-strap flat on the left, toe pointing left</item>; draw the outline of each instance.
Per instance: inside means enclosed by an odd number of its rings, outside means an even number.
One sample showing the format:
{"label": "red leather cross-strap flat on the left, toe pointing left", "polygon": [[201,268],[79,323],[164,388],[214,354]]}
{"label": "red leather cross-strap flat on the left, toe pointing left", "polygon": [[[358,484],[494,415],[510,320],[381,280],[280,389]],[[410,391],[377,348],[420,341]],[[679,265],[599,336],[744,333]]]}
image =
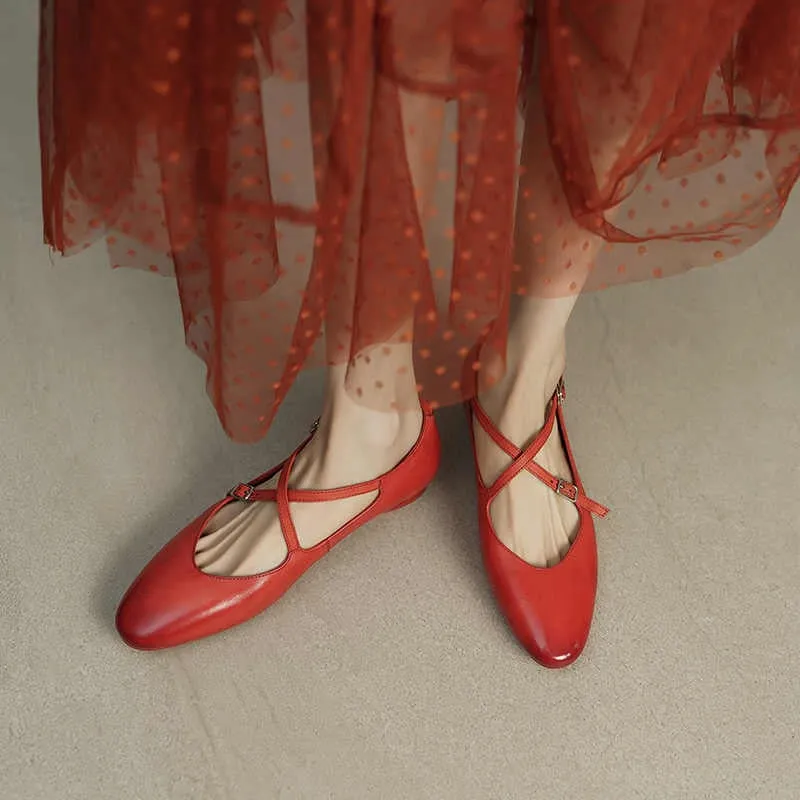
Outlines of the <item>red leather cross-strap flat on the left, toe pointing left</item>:
{"label": "red leather cross-strap flat on the left, toe pointing left", "polygon": [[[313,436],[313,433],[312,433]],[[309,436],[284,462],[241,483],[184,528],[144,568],[117,611],[117,630],[139,650],[174,647],[239,625],[272,605],[335,544],[365,523],[415,500],[433,480],[439,466],[440,441],[430,408],[423,407],[422,430],[414,447],[393,469],[364,483],[339,489],[290,489],[289,475]],[[275,489],[258,487],[279,474]],[[313,547],[300,545],[289,503],[340,500],[376,492],[375,499],[353,519]],[[271,501],[278,505],[288,554],[280,566],[246,577],[209,575],[195,564],[195,549],[209,520],[235,500]]]}

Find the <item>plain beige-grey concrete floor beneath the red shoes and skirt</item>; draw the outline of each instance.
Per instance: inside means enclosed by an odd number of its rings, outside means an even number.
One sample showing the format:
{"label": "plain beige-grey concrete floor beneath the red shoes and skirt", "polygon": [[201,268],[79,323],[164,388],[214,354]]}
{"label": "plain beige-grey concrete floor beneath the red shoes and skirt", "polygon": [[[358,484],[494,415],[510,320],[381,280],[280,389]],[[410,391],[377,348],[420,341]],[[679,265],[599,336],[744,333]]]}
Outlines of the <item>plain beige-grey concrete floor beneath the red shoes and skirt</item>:
{"label": "plain beige-grey concrete floor beneath the red shoes and skirt", "polygon": [[462,414],[416,505],[257,620],[144,655],[126,585],[294,445],[227,441],[174,285],[41,245],[36,4],[0,0],[0,796],[800,796],[795,207],[736,263],[583,299],[568,414],[599,524],[594,633],[538,668],[495,609]]}

